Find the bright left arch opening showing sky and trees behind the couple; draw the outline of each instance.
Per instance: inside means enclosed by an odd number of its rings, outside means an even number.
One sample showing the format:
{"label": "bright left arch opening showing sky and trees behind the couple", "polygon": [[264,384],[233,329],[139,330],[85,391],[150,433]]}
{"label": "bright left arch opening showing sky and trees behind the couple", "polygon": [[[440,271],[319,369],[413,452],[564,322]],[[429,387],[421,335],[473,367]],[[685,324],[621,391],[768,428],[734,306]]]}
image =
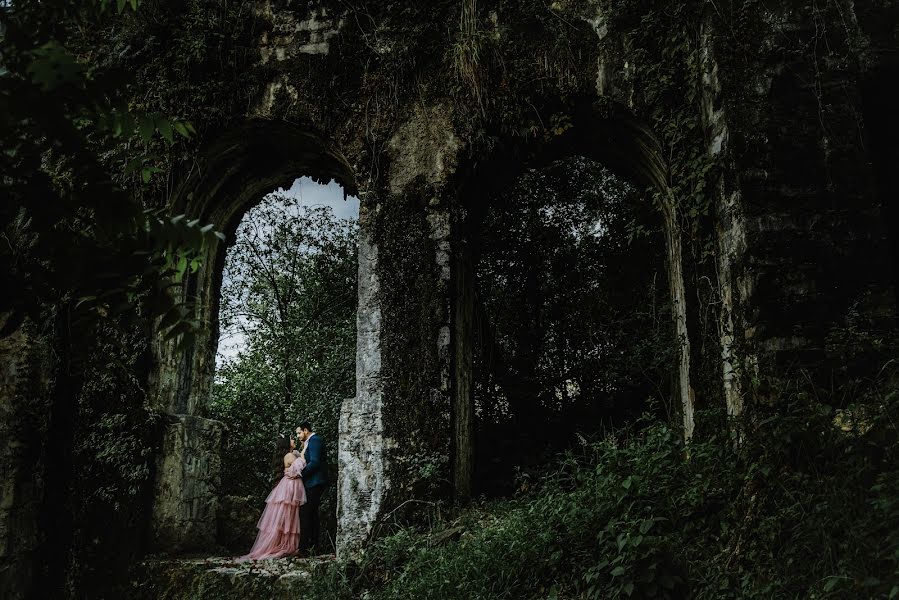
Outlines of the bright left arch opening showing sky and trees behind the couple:
{"label": "bright left arch opening showing sky and trees behind the couple", "polygon": [[[258,517],[278,435],[311,421],[336,459],[340,404],[355,391],[358,215],[358,199],[344,199],[337,183],[304,177],[247,210],[229,240],[209,410],[229,428],[220,541],[235,552],[249,549],[255,522],[227,515]],[[321,510],[326,543],[336,534],[335,489]]]}

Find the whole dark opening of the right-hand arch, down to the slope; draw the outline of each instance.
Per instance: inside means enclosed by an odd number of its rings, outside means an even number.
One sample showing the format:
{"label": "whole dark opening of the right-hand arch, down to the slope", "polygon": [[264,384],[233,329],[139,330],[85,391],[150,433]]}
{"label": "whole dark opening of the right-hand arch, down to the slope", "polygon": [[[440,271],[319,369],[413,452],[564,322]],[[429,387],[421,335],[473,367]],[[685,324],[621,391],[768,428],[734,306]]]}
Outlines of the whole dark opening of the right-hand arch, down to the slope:
{"label": "whole dark opening of the right-hand arch, down to the slope", "polygon": [[488,204],[472,236],[473,398],[477,491],[494,495],[581,436],[672,418],[676,344],[649,193],[573,156]]}

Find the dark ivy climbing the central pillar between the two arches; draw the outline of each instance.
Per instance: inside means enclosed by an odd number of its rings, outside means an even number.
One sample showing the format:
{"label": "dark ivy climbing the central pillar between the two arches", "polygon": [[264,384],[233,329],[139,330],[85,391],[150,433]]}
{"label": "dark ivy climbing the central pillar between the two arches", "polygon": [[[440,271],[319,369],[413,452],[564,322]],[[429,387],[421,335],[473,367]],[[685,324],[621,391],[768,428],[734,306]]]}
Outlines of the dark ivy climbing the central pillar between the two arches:
{"label": "dark ivy climbing the central pillar between the two arches", "polygon": [[378,255],[389,257],[378,264],[382,393],[393,399],[385,402],[382,418],[386,435],[402,432],[414,440],[394,450],[388,474],[406,498],[434,497],[449,483],[449,397],[434,385],[442,368],[436,333],[448,314],[428,220],[429,213],[442,211],[428,207],[419,195],[424,193],[382,205],[371,223]]}

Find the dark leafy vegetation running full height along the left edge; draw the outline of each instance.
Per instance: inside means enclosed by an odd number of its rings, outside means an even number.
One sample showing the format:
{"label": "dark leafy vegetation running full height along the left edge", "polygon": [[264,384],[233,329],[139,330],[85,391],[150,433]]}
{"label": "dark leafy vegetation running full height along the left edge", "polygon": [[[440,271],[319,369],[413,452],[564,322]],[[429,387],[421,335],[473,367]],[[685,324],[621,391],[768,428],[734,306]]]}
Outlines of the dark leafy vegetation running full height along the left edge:
{"label": "dark leafy vegetation running full height along the left edge", "polygon": [[191,335],[179,284],[220,235],[140,201],[157,173],[151,148],[192,138],[193,125],[129,103],[132,73],[79,51],[82,28],[115,29],[138,4],[0,3],[0,338],[24,331],[53,357],[33,374],[41,384],[11,392],[46,402],[40,425],[12,409],[4,417],[16,434],[33,434],[8,440],[35,462],[31,485],[5,497],[24,490],[40,501],[16,506],[39,522],[10,545],[39,548],[37,596],[89,593],[137,553],[155,450],[141,369],[150,323],[159,318],[167,337]]}

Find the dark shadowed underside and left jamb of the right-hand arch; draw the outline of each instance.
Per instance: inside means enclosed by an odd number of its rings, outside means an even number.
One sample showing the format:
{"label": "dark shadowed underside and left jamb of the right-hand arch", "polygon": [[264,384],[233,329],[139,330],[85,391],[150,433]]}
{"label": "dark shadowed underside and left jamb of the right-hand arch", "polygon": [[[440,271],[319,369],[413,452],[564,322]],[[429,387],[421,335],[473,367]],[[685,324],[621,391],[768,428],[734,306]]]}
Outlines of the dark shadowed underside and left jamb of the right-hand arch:
{"label": "dark shadowed underside and left jamb of the right-hand arch", "polygon": [[[638,189],[653,190],[670,201],[669,170],[661,144],[650,128],[627,108],[585,97],[565,109],[570,127],[549,139],[535,137],[500,137],[489,156],[471,159],[460,169],[457,202],[465,208],[465,223],[457,233],[460,248],[453,270],[454,329],[456,348],[453,353],[453,479],[456,495],[465,499],[472,495],[477,458],[475,456],[477,424],[474,414],[473,355],[476,336],[474,292],[476,254],[473,249],[478,224],[482,222],[492,198],[512,187],[529,169],[542,169],[556,161],[581,156],[602,164]],[[671,215],[668,215],[669,217]],[[665,220],[666,243],[679,232],[670,229]],[[679,245],[677,246],[679,249]],[[679,255],[679,251],[677,255]],[[686,303],[682,300],[682,306]],[[686,324],[686,313],[681,315]],[[689,373],[689,346],[684,346],[682,363]],[[689,389],[689,383],[686,383]]]}

